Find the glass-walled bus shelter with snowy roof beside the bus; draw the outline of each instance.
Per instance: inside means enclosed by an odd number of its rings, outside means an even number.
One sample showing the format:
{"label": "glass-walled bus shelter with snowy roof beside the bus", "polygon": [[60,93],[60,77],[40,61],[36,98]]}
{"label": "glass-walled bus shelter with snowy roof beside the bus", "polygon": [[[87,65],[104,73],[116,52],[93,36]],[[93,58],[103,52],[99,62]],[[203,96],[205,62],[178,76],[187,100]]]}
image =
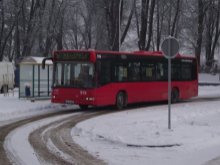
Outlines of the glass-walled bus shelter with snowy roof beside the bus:
{"label": "glass-walled bus shelter with snowy roof beside the bus", "polygon": [[49,98],[51,95],[51,61],[42,69],[43,57],[26,57],[20,62],[19,98]]}

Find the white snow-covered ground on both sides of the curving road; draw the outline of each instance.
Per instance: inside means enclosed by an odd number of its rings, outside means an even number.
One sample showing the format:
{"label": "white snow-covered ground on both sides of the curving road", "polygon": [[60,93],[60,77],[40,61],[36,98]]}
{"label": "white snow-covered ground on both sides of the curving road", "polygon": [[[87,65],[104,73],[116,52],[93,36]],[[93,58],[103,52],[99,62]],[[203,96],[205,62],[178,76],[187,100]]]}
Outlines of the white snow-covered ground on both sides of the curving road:
{"label": "white snow-covered ground on both sides of the curving road", "polygon": [[[218,75],[204,74],[199,80],[219,81]],[[220,97],[220,86],[199,87],[199,97],[212,96]],[[68,108],[49,100],[18,99],[16,91],[14,96],[1,94],[0,106],[0,125],[9,119]],[[171,130],[167,105],[136,108],[79,123],[72,137],[108,164],[200,165],[220,156],[219,107],[220,101],[174,104]]]}

